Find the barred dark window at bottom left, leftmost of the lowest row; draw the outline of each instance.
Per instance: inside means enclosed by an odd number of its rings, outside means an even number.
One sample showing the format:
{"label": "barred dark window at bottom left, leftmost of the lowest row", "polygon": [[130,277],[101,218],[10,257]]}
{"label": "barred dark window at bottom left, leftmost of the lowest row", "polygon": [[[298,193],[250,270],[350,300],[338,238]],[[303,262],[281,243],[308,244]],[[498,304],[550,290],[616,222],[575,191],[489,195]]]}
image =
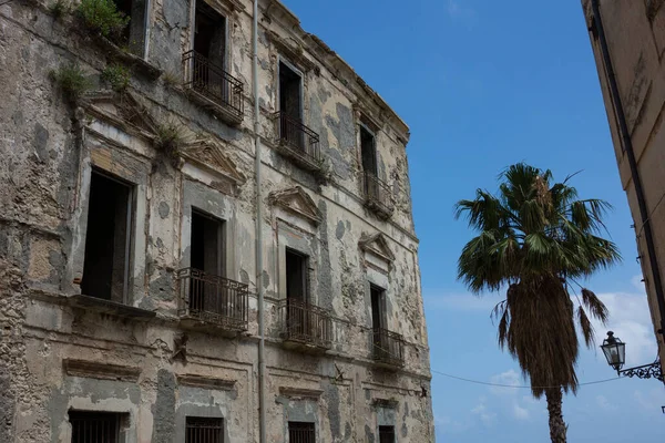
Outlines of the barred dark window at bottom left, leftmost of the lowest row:
{"label": "barred dark window at bottom left, leftmost of the lowest row", "polygon": [[72,443],[120,443],[122,414],[70,411]]}

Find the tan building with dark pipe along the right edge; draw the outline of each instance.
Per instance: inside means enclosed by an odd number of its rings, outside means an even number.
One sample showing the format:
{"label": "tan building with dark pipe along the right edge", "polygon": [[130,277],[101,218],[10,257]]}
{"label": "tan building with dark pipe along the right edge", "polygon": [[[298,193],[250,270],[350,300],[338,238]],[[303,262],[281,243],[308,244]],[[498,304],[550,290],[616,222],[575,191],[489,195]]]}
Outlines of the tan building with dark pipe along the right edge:
{"label": "tan building with dark pipe along the right edge", "polygon": [[582,1],[665,368],[664,3]]}

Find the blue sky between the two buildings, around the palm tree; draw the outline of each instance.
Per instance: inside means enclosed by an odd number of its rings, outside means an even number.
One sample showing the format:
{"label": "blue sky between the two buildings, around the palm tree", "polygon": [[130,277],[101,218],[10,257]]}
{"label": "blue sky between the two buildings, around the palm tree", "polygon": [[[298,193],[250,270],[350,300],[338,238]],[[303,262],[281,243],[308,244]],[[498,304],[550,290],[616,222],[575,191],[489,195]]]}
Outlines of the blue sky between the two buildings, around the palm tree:
{"label": "blue sky between the two buildings, around the palm tree", "polygon": [[[470,296],[456,280],[457,257],[472,233],[452,217],[477,187],[525,161],[555,177],[583,169],[583,197],[608,200],[607,227],[621,266],[587,286],[611,309],[610,327],[627,344],[627,363],[656,354],[633,223],[621,188],[593,54],[579,1],[285,0],[411,127],[408,146],[416,229],[440,442],[549,441],[544,400],[438,372],[523,384],[497,347],[489,313],[499,295]],[[436,321],[434,321],[436,320]],[[608,328],[598,328],[598,336]],[[582,382],[612,378],[600,350],[581,354]],[[662,442],[665,390],[623,379],[582,387],[564,399],[571,442]]]}

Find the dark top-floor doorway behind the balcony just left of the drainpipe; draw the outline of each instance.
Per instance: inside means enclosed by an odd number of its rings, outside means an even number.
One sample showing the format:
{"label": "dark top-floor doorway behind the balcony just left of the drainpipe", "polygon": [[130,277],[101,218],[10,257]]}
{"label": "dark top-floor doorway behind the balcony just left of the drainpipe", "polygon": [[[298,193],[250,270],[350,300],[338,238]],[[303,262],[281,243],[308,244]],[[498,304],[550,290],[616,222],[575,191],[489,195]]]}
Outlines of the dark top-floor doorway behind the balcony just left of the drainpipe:
{"label": "dark top-floor doorway behind the balcony just left of the drainpipe", "polygon": [[[205,56],[209,63],[224,70],[226,56],[226,18],[205,1],[196,1],[194,18],[194,51]],[[208,70],[208,75],[217,75]],[[208,79],[208,83],[221,83],[222,79]]]}

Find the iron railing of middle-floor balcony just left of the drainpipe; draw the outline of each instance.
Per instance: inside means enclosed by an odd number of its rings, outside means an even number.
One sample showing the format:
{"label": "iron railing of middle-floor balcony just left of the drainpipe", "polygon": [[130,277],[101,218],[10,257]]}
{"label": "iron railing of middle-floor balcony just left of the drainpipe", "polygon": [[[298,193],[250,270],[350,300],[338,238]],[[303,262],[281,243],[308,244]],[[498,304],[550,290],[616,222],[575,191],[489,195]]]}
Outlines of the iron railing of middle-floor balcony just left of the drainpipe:
{"label": "iron railing of middle-floor balcony just left of the drainpipe", "polygon": [[229,330],[247,330],[249,287],[195,268],[176,271],[178,316]]}

